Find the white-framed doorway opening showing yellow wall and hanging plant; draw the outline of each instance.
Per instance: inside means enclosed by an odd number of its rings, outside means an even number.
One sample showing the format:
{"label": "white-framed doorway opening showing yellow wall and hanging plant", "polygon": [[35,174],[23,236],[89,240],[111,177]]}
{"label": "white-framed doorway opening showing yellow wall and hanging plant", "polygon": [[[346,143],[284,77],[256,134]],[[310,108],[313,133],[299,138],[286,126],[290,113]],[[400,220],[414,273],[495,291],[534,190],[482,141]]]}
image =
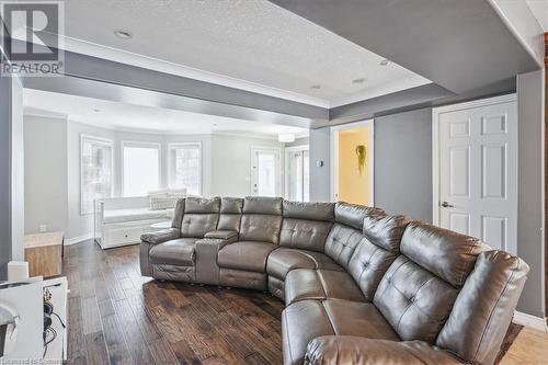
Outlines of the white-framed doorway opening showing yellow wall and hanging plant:
{"label": "white-framed doorway opening showing yellow wall and hanging plant", "polygon": [[374,123],[331,128],[331,198],[374,205]]}

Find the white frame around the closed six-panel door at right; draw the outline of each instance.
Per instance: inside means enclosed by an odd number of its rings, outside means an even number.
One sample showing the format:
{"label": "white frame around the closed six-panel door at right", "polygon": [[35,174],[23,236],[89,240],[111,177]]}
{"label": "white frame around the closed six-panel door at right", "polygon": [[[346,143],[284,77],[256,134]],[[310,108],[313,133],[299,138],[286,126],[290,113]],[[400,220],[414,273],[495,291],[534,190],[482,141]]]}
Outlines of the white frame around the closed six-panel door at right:
{"label": "white frame around the closed six-panel door at right", "polygon": [[[517,94],[506,94],[502,96],[487,98],[475,100],[465,103],[445,105],[432,109],[432,223],[434,226],[439,226],[439,191],[441,191],[441,176],[439,176],[439,115],[447,112],[456,112],[467,109],[481,107],[495,104],[505,104],[510,102],[516,102]],[[517,137],[517,136],[516,136]],[[516,144],[518,141],[516,140]],[[516,146],[517,150],[518,146]],[[516,152],[517,153],[517,152]],[[517,159],[516,159],[517,163]],[[518,183],[518,182],[517,182]],[[515,193],[517,196],[517,183]],[[515,207],[517,209],[517,206]]]}

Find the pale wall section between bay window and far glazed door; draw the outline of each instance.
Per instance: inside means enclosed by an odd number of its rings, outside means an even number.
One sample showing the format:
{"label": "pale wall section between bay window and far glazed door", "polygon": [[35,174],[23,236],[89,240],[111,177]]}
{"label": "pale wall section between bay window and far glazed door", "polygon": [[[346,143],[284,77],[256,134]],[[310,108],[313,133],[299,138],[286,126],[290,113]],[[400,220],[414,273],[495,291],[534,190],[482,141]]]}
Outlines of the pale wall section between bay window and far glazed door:
{"label": "pale wall section between bay window and far glazed door", "polygon": [[279,148],[284,181],[284,144],[274,139],[212,136],[212,195],[251,195],[251,147]]}

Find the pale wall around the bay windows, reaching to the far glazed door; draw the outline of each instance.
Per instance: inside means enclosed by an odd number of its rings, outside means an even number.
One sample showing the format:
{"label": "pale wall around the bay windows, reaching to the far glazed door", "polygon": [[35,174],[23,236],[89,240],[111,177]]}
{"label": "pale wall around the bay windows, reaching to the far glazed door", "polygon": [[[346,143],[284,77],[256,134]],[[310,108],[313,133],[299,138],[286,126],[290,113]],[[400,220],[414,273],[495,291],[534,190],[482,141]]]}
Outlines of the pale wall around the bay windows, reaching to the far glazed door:
{"label": "pale wall around the bay windows, reaching to the far glazed door", "polygon": [[[114,195],[122,195],[122,141],[161,145],[163,186],[168,184],[168,148],[176,142],[202,144],[204,196],[250,194],[251,146],[278,147],[273,139],[225,135],[157,135],[112,130],[44,116],[24,116],[25,232],[62,230],[67,239],[93,231],[93,216],[80,214],[80,135],[109,138],[114,145]],[[283,161],[282,161],[283,163]],[[283,181],[283,179],[282,179]]]}

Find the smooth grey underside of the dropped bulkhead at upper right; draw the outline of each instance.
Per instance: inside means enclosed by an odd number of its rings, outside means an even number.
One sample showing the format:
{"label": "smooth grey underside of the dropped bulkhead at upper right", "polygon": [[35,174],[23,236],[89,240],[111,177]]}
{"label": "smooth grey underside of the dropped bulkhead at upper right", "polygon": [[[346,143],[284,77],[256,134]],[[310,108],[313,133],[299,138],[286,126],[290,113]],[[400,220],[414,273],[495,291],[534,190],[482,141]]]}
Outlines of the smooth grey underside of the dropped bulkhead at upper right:
{"label": "smooth grey underside of the dropped bulkhead at upper right", "polygon": [[488,0],[271,0],[455,92],[540,69]]}

